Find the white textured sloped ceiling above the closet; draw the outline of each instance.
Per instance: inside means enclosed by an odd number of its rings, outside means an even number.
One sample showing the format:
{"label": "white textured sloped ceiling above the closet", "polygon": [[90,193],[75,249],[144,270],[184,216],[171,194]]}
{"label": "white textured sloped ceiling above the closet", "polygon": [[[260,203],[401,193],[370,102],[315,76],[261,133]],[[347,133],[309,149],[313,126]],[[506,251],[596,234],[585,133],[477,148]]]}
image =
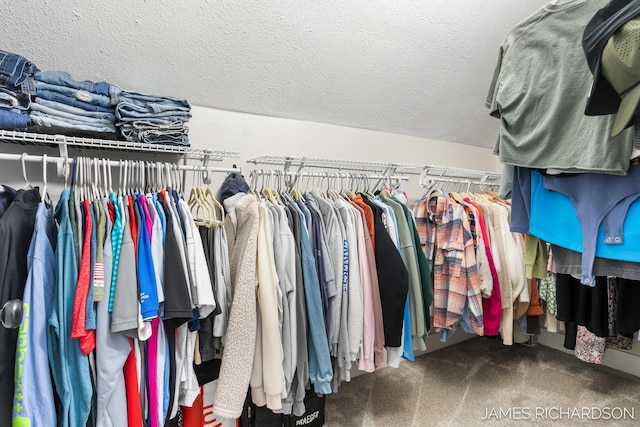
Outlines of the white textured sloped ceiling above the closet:
{"label": "white textured sloped ceiling above the closet", "polygon": [[541,0],[0,0],[0,49],[194,105],[493,146],[498,48]]}

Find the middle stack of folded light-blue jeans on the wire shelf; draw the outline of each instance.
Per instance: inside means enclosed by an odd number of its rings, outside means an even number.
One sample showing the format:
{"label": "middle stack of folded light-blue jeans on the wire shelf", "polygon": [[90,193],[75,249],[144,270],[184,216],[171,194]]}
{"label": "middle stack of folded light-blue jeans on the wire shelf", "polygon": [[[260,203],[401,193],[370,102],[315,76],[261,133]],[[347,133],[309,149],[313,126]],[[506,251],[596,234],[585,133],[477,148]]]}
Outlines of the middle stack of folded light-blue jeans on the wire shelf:
{"label": "middle stack of folded light-blue jeans on the wire shelf", "polygon": [[34,80],[30,114],[35,125],[115,134],[109,83],[76,81],[64,71],[38,72]]}

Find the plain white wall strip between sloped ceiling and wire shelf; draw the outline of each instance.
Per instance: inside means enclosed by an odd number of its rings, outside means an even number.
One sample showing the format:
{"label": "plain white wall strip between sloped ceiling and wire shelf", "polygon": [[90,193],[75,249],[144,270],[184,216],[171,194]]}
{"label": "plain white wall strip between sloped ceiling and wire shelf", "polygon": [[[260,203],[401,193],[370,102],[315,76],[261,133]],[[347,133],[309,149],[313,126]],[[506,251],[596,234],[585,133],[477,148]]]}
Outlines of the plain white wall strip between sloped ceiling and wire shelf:
{"label": "plain white wall strip between sloped ceiling and wire shelf", "polygon": [[[236,163],[248,179],[251,169],[273,166],[245,163],[262,155],[306,156],[339,160],[453,166],[499,171],[490,149],[414,136],[300,120],[194,107],[189,122],[191,143],[197,148],[236,150]],[[223,164],[230,165],[234,161]],[[403,188],[410,197],[420,197],[418,176]]]}

